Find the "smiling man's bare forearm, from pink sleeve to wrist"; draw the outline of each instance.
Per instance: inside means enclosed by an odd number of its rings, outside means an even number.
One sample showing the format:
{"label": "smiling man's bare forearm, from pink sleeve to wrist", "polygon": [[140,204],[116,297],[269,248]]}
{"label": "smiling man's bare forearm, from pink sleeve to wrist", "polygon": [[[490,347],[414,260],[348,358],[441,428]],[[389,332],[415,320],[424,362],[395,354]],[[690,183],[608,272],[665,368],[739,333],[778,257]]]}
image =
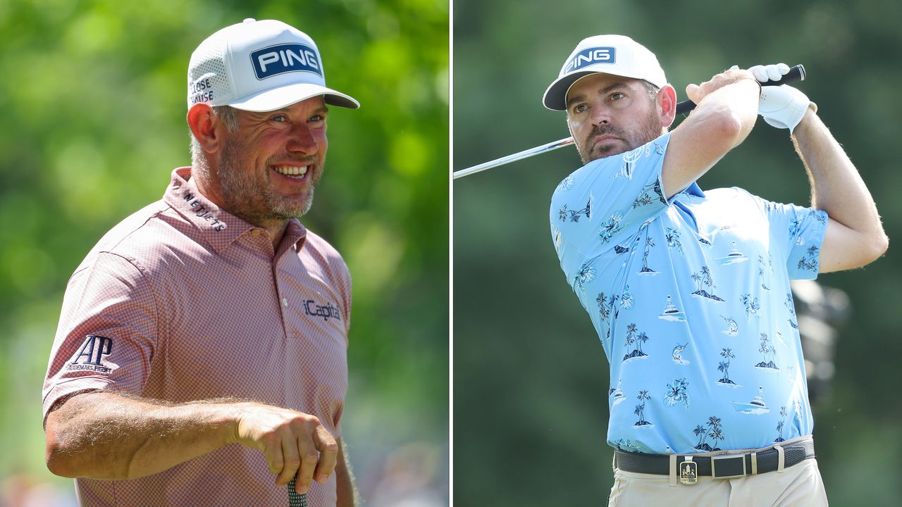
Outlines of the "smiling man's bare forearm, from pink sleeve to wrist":
{"label": "smiling man's bare forearm, from pink sleeve to wrist", "polygon": [[106,480],[156,474],[232,442],[234,413],[226,403],[80,394],[47,418],[47,466],[56,475]]}

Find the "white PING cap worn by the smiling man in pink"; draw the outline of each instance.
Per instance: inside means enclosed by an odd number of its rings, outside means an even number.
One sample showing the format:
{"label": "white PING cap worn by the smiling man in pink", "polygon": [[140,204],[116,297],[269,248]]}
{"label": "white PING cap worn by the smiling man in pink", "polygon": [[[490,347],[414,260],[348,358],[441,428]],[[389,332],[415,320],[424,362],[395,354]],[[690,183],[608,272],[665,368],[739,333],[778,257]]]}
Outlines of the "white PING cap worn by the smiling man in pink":
{"label": "white PING cap worn by the smiling man in pink", "polygon": [[264,112],[320,95],[332,106],[360,107],[326,88],[317,44],[281,21],[245,19],[210,35],[191,54],[189,108],[206,103]]}

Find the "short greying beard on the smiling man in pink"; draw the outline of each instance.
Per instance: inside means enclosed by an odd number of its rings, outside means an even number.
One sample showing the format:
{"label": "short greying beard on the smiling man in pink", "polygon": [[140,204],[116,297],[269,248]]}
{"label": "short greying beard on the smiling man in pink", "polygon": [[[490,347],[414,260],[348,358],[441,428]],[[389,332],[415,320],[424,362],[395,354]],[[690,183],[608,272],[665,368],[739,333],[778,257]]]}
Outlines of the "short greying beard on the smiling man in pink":
{"label": "short greying beard on the smiling man in pink", "polygon": [[239,165],[242,159],[241,147],[234,141],[226,142],[218,171],[222,196],[228,207],[226,211],[251,224],[262,225],[273,220],[301,217],[310,210],[319,171],[308,195],[301,200],[290,199],[272,190],[268,170],[262,173],[246,171]]}

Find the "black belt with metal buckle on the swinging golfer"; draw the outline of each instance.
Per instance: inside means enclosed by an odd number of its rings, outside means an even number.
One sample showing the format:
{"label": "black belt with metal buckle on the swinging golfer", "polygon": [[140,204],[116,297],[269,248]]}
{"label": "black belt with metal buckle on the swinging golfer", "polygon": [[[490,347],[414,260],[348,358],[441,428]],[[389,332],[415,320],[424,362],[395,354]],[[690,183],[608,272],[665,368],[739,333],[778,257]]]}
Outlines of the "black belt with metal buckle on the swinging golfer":
{"label": "black belt with metal buckle on the swinging golfer", "polygon": [[[783,447],[784,467],[797,465],[815,457],[815,441],[811,438],[788,443]],[[689,464],[689,465],[684,465]],[[670,475],[670,456],[614,451],[614,466],[638,474]],[[779,466],[779,451],[769,447],[763,451],[722,456],[676,456],[676,475],[684,484],[694,484],[697,476],[715,479],[774,472]]]}

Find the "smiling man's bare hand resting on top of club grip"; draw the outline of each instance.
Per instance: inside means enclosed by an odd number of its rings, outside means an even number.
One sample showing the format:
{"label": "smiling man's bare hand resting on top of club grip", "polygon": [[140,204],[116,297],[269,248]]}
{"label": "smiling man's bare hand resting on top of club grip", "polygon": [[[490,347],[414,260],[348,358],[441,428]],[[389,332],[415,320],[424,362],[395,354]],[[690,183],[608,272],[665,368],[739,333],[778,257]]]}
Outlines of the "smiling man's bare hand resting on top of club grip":
{"label": "smiling man's bare hand resting on top of club grip", "polygon": [[338,445],[316,417],[253,402],[236,409],[235,441],[262,451],[276,485],[297,475],[298,493],[307,493],[313,479],[325,483],[335,470]]}

